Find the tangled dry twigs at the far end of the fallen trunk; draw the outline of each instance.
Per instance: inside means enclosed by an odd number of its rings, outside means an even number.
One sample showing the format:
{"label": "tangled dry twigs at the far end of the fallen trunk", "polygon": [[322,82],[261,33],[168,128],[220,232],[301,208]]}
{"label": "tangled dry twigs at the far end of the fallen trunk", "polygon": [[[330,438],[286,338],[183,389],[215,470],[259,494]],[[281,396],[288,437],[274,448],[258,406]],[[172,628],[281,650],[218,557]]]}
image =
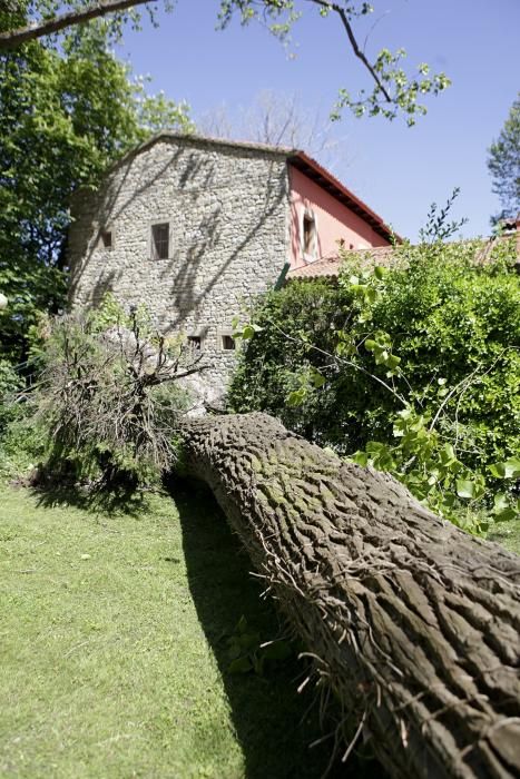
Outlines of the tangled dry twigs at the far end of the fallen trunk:
{"label": "tangled dry twigs at the far end of the fallen trunk", "polygon": [[105,482],[141,481],[174,461],[173,438],[187,395],[176,383],[204,369],[180,337],[92,317],[58,321],[48,342],[37,416],[52,441],[52,465]]}

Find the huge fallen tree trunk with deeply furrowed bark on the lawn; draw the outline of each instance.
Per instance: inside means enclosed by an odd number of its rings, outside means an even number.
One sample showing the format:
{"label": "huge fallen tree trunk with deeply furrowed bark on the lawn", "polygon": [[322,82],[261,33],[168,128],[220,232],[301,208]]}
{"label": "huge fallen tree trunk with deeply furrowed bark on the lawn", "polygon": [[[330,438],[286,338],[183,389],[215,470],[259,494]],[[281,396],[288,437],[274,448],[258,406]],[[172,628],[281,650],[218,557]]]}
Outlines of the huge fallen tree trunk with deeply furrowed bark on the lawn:
{"label": "huge fallen tree trunk with deeply furrowed bark on the lawn", "polygon": [[520,776],[520,558],[264,414],[192,420],[188,471],[395,777]]}

